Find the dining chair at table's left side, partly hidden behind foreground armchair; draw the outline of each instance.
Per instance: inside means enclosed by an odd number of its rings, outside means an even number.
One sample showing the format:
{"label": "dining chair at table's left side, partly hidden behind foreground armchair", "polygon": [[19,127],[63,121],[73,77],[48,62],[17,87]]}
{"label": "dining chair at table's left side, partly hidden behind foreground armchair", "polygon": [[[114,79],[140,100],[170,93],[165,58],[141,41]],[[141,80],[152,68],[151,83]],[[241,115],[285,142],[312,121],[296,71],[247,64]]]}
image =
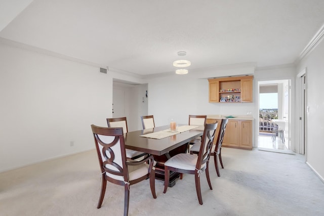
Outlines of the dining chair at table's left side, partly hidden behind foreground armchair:
{"label": "dining chair at table's left side, partly hidden behind foreground armchair", "polygon": [[[128,127],[127,127],[127,118],[126,117],[120,117],[120,118],[107,118],[107,124],[108,127],[123,127],[124,133],[128,133]],[[126,156],[127,158],[130,158],[132,160],[138,159],[140,157],[145,156],[146,153],[135,151],[131,149],[126,149]]]}

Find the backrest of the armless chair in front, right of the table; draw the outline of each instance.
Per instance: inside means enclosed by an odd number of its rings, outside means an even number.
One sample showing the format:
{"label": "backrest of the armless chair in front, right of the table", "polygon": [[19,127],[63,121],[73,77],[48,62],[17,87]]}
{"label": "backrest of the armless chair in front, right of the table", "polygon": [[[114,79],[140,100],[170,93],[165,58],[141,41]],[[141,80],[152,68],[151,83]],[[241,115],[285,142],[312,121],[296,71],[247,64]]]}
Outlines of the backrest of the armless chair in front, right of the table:
{"label": "backrest of the armless chair in front, right of the table", "polygon": [[201,138],[201,145],[198,153],[198,159],[196,163],[196,169],[199,170],[209,160],[211,150],[213,147],[213,141],[215,138],[217,122],[212,124],[205,124],[203,138]]}

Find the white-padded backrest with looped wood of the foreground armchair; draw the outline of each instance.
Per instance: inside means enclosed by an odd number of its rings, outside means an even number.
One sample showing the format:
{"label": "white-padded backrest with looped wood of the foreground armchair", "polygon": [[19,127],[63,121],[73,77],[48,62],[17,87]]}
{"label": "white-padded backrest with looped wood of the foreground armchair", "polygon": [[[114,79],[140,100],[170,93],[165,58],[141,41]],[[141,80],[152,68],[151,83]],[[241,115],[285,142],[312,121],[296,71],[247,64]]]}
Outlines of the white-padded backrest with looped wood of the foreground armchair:
{"label": "white-padded backrest with looped wood of the foreground armchair", "polygon": [[129,181],[123,127],[91,125],[101,172],[106,172],[110,182]]}

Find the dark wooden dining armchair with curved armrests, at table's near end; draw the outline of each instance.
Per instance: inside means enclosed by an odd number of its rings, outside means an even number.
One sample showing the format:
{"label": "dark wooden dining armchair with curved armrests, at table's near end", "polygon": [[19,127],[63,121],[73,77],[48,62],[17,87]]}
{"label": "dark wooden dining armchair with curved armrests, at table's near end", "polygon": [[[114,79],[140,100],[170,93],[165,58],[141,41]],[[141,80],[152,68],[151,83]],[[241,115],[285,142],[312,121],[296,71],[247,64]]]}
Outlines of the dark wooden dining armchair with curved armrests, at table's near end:
{"label": "dark wooden dining armchair with curved armrests, at table's near end", "polygon": [[[107,182],[124,186],[124,216],[128,215],[131,185],[149,178],[153,198],[155,194],[155,170],[153,156],[140,161],[127,160],[123,127],[100,127],[91,125],[101,169],[101,192],[97,208],[102,205]],[[143,196],[144,192],[141,192]]]}

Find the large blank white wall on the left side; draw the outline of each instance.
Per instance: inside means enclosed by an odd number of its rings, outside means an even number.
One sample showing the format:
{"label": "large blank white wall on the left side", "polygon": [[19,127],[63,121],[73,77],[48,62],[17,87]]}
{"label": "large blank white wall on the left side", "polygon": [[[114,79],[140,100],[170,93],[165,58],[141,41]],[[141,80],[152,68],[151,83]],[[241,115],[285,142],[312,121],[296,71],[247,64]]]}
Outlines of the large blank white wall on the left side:
{"label": "large blank white wall on the left side", "polygon": [[109,74],[1,42],[0,59],[0,171],[94,148],[90,125],[111,112]]}

